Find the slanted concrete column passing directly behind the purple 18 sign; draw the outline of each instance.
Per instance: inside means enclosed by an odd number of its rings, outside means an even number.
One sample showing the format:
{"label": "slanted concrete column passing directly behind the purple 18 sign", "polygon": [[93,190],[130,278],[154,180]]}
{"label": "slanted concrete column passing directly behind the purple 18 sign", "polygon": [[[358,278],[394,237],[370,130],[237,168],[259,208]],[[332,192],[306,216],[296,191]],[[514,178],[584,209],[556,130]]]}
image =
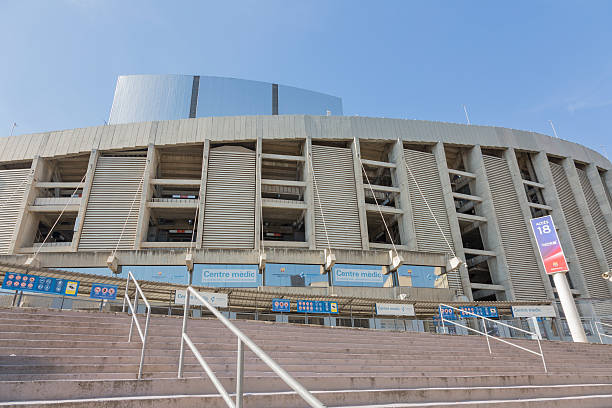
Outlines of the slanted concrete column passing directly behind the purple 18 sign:
{"label": "slanted concrete column passing directly behind the purple 18 sign", "polygon": [[569,232],[567,221],[565,220],[565,214],[561,207],[561,201],[559,201],[559,195],[557,194],[557,187],[553,179],[552,172],[550,170],[550,163],[548,162],[548,156],[546,152],[541,151],[531,155],[531,162],[536,172],[537,178],[541,184],[544,184],[542,194],[546,205],[553,208],[552,217],[557,228],[557,234],[559,235],[559,241],[563,248],[563,253],[567,259],[569,269],[568,272],[572,278],[575,289],[579,290],[582,294],[587,294],[586,285],[584,283],[584,275],[578,261],[578,255],[574,248],[574,242]]}

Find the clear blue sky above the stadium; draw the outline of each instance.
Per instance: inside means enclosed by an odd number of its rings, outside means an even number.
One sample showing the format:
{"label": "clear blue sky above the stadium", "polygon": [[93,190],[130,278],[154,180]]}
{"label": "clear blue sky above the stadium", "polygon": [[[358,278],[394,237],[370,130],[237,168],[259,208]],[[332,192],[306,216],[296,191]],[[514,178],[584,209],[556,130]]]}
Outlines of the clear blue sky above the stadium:
{"label": "clear blue sky above the stadium", "polygon": [[100,125],[118,75],[277,82],[346,115],[552,134],[612,157],[610,1],[0,0],[0,136]]}

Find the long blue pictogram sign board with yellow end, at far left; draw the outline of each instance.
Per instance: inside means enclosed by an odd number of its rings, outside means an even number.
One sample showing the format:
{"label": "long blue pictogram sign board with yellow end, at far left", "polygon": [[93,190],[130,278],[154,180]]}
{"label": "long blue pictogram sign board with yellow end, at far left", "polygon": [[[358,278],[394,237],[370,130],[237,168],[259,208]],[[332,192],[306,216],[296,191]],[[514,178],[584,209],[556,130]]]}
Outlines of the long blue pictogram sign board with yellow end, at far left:
{"label": "long blue pictogram sign board with yellow end, at far left", "polygon": [[7,272],[2,281],[2,289],[76,296],[79,292],[79,283],[71,279]]}

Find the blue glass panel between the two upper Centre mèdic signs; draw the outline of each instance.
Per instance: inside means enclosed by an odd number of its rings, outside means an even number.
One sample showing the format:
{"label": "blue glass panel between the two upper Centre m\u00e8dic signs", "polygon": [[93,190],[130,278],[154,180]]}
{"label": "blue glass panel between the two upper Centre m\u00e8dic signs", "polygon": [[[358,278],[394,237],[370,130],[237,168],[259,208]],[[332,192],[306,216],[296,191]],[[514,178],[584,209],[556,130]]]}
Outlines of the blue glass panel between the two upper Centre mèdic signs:
{"label": "blue glass panel between the two upper Centre m\u00e8dic signs", "polygon": [[266,286],[327,287],[329,277],[320,265],[266,264]]}

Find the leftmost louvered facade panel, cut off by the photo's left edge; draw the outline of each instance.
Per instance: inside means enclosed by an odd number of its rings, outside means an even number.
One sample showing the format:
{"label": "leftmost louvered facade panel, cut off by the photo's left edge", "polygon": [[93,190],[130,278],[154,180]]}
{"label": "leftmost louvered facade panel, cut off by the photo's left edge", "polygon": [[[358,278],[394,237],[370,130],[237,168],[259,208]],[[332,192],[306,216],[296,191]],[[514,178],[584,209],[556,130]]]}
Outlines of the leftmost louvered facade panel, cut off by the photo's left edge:
{"label": "leftmost louvered facade panel, cut off by the photo's left edge", "polygon": [[0,170],[0,254],[8,254],[15,237],[30,169]]}

